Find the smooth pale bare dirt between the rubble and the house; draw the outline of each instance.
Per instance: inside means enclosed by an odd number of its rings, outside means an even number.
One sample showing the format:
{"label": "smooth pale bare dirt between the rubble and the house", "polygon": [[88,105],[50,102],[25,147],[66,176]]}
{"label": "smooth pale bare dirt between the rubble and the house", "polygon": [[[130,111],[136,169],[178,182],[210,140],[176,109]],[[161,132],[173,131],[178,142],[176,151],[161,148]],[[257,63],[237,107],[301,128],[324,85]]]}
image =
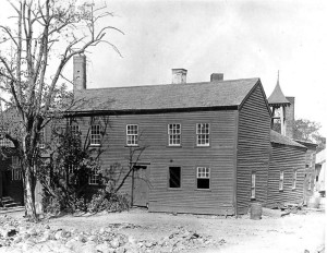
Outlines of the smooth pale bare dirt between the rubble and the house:
{"label": "smooth pale bare dirt between the rubble and the house", "polygon": [[[15,218],[22,213],[9,214]],[[326,217],[323,212],[290,214],[274,218],[263,216],[261,220],[252,220],[249,216],[221,217],[204,215],[172,215],[147,213],[132,209],[120,214],[97,214],[74,217],[66,215],[60,218],[46,219],[51,228],[77,229],[78,231],[99,229],[121,224],[120,232],[135,240],[162,240],[180,228],[196,231],[211,237],[219,242],[215,246],[206,246],[187,252],[324,252]]]}

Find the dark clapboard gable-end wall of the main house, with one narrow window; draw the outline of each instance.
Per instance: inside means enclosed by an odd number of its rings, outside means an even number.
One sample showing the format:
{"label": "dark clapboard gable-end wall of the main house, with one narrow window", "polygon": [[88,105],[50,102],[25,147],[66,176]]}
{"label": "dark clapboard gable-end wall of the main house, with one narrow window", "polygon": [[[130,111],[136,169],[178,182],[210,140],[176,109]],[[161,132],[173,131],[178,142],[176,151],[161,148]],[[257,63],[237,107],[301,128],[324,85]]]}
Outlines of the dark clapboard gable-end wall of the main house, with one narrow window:
{"label": "dark clapboard gable-end wall of the main house, with one narrow window", "polygon": [[251,173],[256,173],[256,198],[267,200],[267,177],[270,150],[270,115],[265,94],[258,83],[239,112],[237,161],[238,214],[244,214],[251,203]]}

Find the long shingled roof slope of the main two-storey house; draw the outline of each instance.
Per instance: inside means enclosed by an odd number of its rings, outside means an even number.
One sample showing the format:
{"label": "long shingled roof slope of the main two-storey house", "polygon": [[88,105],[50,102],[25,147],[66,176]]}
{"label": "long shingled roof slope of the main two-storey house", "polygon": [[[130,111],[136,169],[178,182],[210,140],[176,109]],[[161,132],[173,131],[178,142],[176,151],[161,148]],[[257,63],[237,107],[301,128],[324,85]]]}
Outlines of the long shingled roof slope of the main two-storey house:
{"label": "long shingled roof slope of the main two-storey house", "polygon": [[239,107],[259,79],[78,91],[71,112]]}

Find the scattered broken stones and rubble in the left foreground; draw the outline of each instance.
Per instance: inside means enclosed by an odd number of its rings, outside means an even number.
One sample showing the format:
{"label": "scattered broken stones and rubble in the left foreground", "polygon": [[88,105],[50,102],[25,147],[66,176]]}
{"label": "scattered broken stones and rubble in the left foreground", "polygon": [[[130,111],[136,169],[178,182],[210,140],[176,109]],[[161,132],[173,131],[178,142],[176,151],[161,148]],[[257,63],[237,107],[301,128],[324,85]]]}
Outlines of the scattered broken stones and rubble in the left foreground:
{"label": "scattered broken stones and rubble in the left foreground", "polygon": [[0,253],[93,253],[93,252],[187,252],[223,244],[210,237],[201,236],[178,227],[170,236],[159,241],[138,240],[123,234],[121,229],[135,229],[134,225],[111,225],[92,231],[51,229],[45,224],[19,221],[9,216],[0,217]]}

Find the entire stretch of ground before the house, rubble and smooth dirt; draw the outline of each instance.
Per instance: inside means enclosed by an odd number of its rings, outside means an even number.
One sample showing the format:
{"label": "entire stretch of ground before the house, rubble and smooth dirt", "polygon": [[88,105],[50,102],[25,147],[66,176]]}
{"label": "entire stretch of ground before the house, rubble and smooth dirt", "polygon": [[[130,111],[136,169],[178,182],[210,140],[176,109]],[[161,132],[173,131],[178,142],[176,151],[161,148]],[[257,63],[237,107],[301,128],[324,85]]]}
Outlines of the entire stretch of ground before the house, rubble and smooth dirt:
{"label": "entire stretch of ground before the house, rubble and smooth dirt", "polygon": [[0,215],[2,252],[324,252],[325,214],[252,220],[220,216],[121,214],[46,217]]}

